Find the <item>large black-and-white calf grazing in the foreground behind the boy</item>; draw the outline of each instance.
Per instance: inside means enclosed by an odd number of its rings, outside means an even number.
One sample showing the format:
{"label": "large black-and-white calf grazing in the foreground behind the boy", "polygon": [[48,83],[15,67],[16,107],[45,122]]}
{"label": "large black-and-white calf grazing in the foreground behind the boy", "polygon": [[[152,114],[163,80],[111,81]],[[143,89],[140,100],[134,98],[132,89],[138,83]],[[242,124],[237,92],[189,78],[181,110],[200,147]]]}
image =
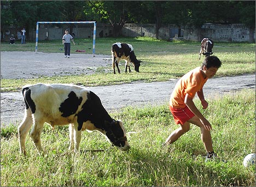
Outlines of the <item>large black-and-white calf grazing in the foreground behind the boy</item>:
{"label": "large black-and-white calf grazing in the foreground behind the boy", "polygon": [[120,150],[130,148],[123,122],[112,119],[98,96],[80,86],[68,84],[26,85],[22,88],[25,116],[18,127],[20,153],[26,154],[28,131],[38,152],[42,151],[40,134],[44,122],[55,125],[69,124],[69,149],[78,151],[83,130],[100,131],[113,146]]}

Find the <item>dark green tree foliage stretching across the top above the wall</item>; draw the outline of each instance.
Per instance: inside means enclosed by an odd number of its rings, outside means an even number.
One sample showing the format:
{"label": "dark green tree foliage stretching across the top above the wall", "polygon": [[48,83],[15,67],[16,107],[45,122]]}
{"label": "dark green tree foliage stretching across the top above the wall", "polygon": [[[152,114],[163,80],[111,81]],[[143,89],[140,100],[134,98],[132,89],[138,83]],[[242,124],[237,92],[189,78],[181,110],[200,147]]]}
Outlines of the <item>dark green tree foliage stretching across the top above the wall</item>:
{"label": "dark green tree foliage stretching across the top above the wall", "polygon": [[111,23],[113,35],[125,23],[162,23],[200,28],[204,23],[245,23],[255,28],[255,1],[1,1],[1,29],[34,28],[37,21]]}

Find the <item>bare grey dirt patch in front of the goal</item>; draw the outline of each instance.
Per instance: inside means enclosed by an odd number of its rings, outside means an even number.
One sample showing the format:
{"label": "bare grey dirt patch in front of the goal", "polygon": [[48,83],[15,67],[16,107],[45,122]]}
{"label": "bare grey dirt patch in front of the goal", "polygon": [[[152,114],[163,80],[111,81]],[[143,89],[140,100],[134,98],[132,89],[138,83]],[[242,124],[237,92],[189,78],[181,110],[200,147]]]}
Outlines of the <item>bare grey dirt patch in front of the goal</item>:
{"label": "bare grey dirt patch in front of the goal", "polygon": [[[29,51],[1,51],[1,79],[30,79],[54,75],[93,74],[97,67],[111,67],[111,55]],[[109,68],[108,68],[109,69]]]}

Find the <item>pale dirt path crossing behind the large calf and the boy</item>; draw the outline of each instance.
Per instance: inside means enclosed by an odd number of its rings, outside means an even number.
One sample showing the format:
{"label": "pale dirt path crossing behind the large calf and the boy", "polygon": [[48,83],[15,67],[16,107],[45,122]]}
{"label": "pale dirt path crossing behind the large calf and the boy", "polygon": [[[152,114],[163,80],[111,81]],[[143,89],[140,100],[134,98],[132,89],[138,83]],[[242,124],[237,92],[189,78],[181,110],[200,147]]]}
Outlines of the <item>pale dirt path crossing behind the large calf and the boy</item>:
{"label": "pale dirt path crossing behind the large calf and the boy", "polygon": [[[114,111],[129,105],[165,104],[176,82],[177,80],[170,80],[86,88],[100,96],[107,111]],[[255,89],[255,75],[210,79],[206,82],[203,92],[207,100],[210,99],[210,95],[219,96],[242,88]],[[19,124],[24,115],[24,107],[20,92],[1,93],[1,125]]]}

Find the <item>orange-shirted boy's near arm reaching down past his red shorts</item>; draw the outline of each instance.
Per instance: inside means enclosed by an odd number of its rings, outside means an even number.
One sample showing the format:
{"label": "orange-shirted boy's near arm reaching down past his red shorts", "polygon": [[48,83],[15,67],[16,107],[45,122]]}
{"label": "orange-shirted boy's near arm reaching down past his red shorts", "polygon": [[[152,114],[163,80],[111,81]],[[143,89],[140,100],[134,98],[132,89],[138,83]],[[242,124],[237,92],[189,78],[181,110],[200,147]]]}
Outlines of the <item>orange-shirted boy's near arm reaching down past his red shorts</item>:
{"label": "orange-shirted boy's near arm reaching down past his red shorts", "polygon": [[202,113],[195,106],[193,98],[190,98],[189,94],[185,95],[184,102],[185,105],[188,106],[189,110],[191,110],[200,119],[205,129],[210,131],[212,129],[210,122],[208,122],[208,120],[205,117],[203,117]]}

